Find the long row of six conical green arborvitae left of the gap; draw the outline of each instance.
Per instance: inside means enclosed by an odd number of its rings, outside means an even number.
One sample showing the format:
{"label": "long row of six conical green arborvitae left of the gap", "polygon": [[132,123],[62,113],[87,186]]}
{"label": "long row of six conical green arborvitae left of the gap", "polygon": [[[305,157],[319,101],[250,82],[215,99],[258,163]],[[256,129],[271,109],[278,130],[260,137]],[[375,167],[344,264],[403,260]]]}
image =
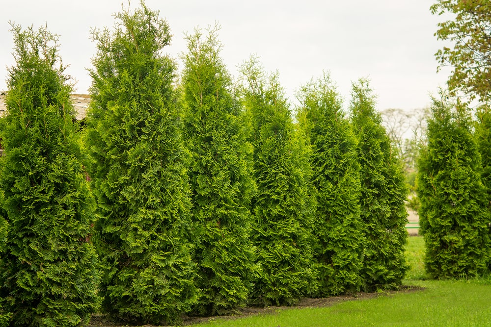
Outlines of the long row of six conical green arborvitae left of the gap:
{"label": "long row of six conical green arborvitae left of the gap", "polygon": [[12,25],[0,120],[0,322],[173,322],[400,285],[407,189],[366,80],[350,115],[327,74],[298,92],[255,58],[234,82],[217,28],[141,2],[93,30],[86,126],[46,27]]}

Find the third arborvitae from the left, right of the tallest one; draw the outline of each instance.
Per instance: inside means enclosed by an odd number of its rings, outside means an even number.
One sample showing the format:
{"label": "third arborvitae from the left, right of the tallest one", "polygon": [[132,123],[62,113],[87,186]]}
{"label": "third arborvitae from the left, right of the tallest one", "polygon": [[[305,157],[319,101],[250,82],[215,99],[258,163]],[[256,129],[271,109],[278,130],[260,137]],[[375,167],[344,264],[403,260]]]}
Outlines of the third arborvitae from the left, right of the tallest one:
{"label": "third arborvitae from the left, right of the tallest one", "polygon": [[202,290],[196,313],[222,314],[246,303],[256,274],[249,239],[255,184],[252,147],[219,56],[217,28],[208,32],[187,36],[182,87]]}

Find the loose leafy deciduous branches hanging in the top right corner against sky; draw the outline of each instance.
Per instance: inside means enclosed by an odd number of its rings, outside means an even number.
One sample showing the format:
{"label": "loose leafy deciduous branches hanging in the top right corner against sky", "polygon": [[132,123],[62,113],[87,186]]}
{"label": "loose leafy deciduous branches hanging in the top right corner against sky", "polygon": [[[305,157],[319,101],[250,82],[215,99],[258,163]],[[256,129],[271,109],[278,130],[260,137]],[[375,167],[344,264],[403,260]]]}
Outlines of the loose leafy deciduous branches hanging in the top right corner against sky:
{"label": "loose leafy deciduous branches hanging in the top right corner against sky", "polygon": [[437,0],[434,15],[450,15],[435,35],[452,48],[436,52],[440,68],[453,68],[447,84],[450,95],[463,91],[470,100],[491,100],[491,3],[488,0]]}

